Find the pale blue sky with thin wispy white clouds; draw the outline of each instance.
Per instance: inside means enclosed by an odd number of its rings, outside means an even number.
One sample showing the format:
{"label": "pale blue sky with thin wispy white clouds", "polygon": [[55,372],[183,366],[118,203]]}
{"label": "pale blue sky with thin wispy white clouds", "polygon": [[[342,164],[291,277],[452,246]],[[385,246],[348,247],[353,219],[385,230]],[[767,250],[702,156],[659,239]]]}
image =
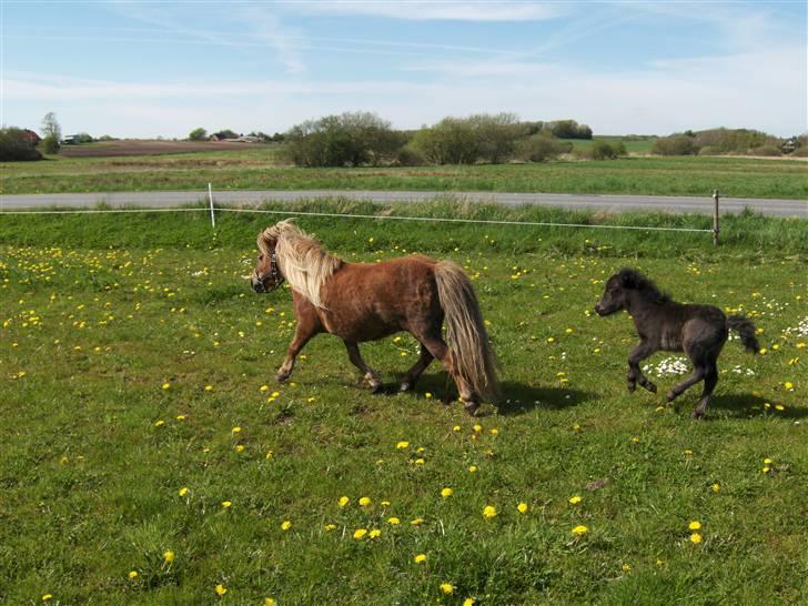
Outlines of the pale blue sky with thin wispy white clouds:
{"label": "pale blue sky with thin wispy white clouds", "polygon": [[507,111],[595,133],[808,131],[808,2],[2,0],[6,125],[397,128]]}

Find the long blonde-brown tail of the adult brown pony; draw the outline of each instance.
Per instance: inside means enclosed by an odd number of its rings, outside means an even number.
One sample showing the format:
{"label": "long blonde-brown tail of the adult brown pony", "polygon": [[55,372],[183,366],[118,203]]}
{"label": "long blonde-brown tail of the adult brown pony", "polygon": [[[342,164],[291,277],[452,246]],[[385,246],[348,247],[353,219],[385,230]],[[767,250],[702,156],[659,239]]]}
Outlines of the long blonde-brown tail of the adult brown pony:
{"label": "long blonde-brown tail of the adult brown pony", "polygon": [[457,373],[483,400],[499,395],[496,355],[488,343],[477,296],[466,273],[450,261],[435,265],[441,307],[446,315],[450,355]]}

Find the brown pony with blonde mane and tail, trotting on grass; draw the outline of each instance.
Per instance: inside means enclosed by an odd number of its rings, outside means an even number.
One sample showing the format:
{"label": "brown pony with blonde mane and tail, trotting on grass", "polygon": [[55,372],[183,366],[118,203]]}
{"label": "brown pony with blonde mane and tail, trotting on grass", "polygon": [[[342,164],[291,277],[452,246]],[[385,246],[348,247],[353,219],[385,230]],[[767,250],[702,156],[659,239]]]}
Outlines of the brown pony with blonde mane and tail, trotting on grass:
{"label": "brown pony with blonde mane and tail, trotting on grass", "polygon": [[[375,393],[382,382],[362,360],[358,343],[407,331],[421,343],[421,356],[404,376],[402,392],[412,390],[436,357],[469,414],[481,398],[496,397],[496,361],[477,297],[468,276],[454,263],[421,255],[347,263],[325,252],[291,220],[266,228],[257,245],[261,254],[252,287],[264,293],[287,281],[297,319],[279,381],[289,380],[295,357],[311,337],[329,332],[342,339],[349,358]],[[441,335],[444,317],[448,344]]]}

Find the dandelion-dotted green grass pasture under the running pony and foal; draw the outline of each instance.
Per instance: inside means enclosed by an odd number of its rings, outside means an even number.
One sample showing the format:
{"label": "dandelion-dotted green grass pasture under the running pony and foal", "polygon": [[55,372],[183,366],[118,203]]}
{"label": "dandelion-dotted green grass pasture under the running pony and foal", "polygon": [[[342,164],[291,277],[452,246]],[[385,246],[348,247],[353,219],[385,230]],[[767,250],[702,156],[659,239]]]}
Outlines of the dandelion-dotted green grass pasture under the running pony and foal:
{"label": "dandelion-dotted green grass pasture under the running pony and foal", "polygon": [[[640,220],[703,221],[613,221]],[[479,418],[441,403],[436,365],[413,394],[371,395],[327,335],[275,384],[291,293],[243,280],[271,221],[0,216],[1,603],[808,600],[805,221],[727,218],[714,250],[700,233],[301,218],[350,261],[466,267],[504,385]],[[678,410],[625,391],[630,322],[590,310],[626,264],[762,331],[764,355],[727,344],[707,421],[689,418],[697,387]],[[363,354],[393,384],[416,349]],[[648,361],[660,393],[680,380],[657,376],[670,358]]]}

